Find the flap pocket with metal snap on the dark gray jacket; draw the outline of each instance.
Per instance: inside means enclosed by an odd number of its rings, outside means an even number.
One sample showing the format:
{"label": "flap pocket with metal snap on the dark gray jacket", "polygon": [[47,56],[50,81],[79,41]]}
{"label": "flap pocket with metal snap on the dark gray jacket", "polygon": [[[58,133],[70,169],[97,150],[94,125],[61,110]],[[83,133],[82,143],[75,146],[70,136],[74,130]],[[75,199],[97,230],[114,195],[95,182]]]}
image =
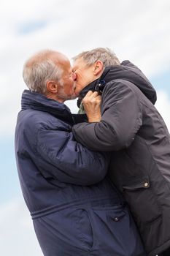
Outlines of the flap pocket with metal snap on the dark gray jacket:
{"label": "flap pocket with metal snap on the dark gray jacket", "polygon": [[161,217],[161,206],[152,189],[149,176],[124,184],[123,195],[136,222],[147,224]]}

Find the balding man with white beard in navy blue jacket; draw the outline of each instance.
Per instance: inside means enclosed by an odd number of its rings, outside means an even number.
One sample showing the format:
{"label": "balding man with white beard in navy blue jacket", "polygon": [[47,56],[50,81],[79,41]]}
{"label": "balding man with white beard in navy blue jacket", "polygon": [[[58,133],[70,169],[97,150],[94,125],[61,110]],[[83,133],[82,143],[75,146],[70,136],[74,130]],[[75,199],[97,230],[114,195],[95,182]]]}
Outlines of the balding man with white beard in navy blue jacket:
{"label": "balding man with white beard in navy blue jacket", "polygon": [[145,255],[128,208],[106,176],[108,154],[89,151],[73,138],[79,116],[63,104],[74,94],[69,60],[42,51],[26,61],[23,78],[29,90],[22,96],[15,152],[43,254]]}

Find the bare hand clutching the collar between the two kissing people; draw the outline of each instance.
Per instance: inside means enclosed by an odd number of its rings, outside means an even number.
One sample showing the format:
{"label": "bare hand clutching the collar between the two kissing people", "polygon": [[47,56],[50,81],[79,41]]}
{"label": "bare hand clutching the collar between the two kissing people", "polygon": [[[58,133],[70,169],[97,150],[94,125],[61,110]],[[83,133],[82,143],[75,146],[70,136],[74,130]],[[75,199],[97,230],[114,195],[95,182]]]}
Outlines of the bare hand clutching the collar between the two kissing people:
{"label": "bare hand clutching the collar between the two kissing people", "polygon": [[82,99],[82,105],[90,123],[101,121],[101,96],[97,91],[88,91]]}

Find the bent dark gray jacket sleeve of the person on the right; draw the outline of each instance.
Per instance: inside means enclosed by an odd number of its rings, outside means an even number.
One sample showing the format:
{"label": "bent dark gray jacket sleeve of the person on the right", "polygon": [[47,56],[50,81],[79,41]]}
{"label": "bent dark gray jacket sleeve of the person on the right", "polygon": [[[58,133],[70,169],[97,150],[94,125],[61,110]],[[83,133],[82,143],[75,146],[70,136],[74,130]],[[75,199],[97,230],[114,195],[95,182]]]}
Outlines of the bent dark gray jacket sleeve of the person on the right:
{"label": "bent dark gray jacket sleeve of the person on the right", "polygon": [[142,125],[139,89],[128,81],[107,84],[101,102],[101,121],[72,128],[77,141],[91,150],[118,151],[128,147]]}

